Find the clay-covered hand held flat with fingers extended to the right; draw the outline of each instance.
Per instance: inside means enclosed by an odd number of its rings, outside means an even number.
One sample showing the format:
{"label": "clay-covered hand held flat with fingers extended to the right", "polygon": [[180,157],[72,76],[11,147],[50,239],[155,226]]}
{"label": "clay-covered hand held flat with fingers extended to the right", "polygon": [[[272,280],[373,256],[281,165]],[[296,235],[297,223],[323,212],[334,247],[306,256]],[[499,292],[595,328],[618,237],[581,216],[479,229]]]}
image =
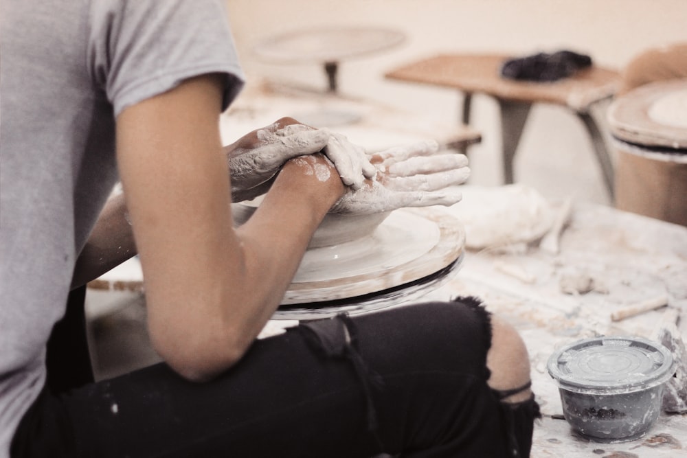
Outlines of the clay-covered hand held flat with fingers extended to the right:
{"label": "clay-covered hand held flat with fingers extended to the right", "polygon": [[330,213],[373,214],[458,203],[462,195],[455,185],[469,178],[468,159],[464,154],[437,151],[436,141],[424,141],[373,154],[374,179],[365,181],[359,190],[348,188]]}

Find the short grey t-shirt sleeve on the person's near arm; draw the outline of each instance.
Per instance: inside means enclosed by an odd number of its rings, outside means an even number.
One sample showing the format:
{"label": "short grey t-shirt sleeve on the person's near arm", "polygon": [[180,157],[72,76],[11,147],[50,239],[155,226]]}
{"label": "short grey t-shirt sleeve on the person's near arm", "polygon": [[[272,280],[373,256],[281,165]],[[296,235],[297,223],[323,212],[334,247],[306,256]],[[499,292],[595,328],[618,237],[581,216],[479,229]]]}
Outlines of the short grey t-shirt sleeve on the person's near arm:
{"label": "short grey t-shirt sleeve on the person's near arm", "polygon": [[115,116],[205,73],[225,76],[223,109],[243,87],[222,0],[92,0],[89,19],[89,69]]}

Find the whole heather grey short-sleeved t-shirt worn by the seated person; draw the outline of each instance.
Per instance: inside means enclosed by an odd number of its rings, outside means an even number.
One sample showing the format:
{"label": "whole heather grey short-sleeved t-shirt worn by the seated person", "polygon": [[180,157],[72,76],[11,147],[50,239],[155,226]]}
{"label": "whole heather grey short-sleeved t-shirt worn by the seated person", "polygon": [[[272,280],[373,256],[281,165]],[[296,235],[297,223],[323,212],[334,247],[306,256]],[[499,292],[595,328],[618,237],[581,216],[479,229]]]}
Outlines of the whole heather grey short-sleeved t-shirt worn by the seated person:
{"label": "whole heather grey short-sleeved t-shirt worn by the seated person", "polygon": [[3,0],[0,457],[45,381],[74,261],[117,180],[115,117],[203,73],[243,73],[223,0]]}

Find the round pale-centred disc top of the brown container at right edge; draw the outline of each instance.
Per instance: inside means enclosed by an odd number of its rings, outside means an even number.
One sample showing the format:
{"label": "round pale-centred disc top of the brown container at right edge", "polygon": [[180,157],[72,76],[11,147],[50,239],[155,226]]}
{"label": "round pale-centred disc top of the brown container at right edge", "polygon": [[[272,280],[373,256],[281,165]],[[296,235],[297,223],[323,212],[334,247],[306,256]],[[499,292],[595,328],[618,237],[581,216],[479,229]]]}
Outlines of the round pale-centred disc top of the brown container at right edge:
{"label": "round pale-centred disc top of the brown container at right edge", "polygon": [[608,111],[614,137],[647,148],[687,149],[686,119],[687,79],[645,84]]}

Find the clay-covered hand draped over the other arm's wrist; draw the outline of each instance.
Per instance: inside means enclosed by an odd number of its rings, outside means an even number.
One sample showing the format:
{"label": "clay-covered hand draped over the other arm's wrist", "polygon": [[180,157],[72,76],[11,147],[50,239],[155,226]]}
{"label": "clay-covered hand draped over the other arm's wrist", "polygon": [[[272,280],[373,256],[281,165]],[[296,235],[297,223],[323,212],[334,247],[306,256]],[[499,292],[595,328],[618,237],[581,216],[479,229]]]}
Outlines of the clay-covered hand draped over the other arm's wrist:
{"label": "clay-covered hand draped over the other arm's wrist", "polygon": [[264,194],[286,161],[315,152],[324,152],[343,184],[354,189],[376,174],[363,148],[351,144],[341,134],[305,126],[291,117],[282,117],[244,135],[225,146],[224,151],[229,160],[234,202]]}

